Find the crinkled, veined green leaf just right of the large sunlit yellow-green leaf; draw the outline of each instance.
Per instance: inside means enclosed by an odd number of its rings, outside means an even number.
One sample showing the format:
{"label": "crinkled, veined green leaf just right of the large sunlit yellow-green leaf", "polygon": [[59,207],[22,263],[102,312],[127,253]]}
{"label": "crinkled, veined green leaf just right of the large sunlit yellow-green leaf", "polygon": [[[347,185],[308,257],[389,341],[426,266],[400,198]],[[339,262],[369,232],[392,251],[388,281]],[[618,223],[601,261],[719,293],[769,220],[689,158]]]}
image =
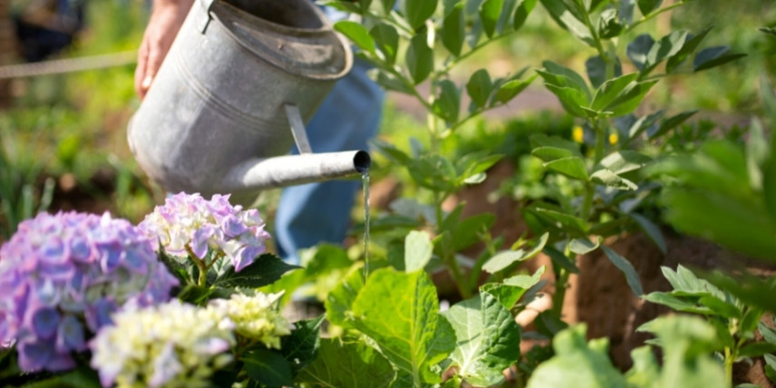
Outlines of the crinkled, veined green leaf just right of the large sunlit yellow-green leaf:
{"label": "crinkled, veined green leaf just right of the large sunlit yellow-green leaf", "polygon": [[509,310],[488,293],[480,293],[442,313],[455,331],[451,366],[475,386],[504,381],[504,369],[520,356],[520,328]]}

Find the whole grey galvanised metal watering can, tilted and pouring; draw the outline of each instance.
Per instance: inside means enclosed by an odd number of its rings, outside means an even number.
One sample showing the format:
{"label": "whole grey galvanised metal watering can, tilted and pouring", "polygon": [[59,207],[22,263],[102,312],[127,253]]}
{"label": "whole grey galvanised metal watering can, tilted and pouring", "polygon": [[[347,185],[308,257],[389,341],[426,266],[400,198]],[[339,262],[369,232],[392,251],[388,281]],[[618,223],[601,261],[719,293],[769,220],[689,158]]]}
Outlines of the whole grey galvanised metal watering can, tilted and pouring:
{"label": "whole grey galvanised metal watering can, tilted and pouring", "polygon": [[[304,127],[352,64],[309,0],[197,0],[131,118],[130,149],[171,192],[248,199],[364,172],[366,151],[312,153]],[[295,140],[300,155],[282,156]]]}

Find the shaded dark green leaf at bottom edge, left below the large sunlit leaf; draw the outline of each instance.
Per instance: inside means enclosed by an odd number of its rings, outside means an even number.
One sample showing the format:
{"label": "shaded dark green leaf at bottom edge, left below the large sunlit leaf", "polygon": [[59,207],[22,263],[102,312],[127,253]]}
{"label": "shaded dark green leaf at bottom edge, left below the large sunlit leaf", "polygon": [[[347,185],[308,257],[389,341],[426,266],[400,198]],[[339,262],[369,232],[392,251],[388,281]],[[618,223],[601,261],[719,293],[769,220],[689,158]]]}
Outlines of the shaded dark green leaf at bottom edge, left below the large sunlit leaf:
{"label": "shaded dark green leaf at bottom edge, left below the large sunlit leaf", "polygon": [[296,383],[336,388],[389,387],[396,373],[385,357],[364,341],[322,338],[318,357]]}

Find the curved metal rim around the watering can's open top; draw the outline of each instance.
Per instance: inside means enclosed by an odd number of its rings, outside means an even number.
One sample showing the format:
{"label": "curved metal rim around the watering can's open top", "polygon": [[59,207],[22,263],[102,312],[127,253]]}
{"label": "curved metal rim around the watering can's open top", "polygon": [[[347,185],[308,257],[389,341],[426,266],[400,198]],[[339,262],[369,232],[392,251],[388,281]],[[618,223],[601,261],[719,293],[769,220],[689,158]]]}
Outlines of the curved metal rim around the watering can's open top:
{"label": "curved metal rim around the watering can's open top", "polygon": [[[342,34],[337,33],[332,27],[332,25],[329,23],[323,11],[321,11],[317,6],[315,6],[313,3],[309,1],[305,0],[300,2],[300,4],[306,4],[306,6],[308,6],[308,9],[317,16],[317,19],[321,23],[321,26],[319,28],[293,27],[285,24],[274,23],[270,20],[264,19],[257,15],[248,14],[240,10],[235,5],[230,5],[223,0],[199,0],[199,4],[202,6],[202,8],[206,13],[206,22],[203,26],[200,27],[200,33],[204,34],[205,31],[207,30],[207,24],[209,24],[209,21],[215,18],[224,27],[223,30],[228,34],[228,36],[234,39],[240,46],[245,48],[248,52],[256,55],[262,61],[266,63],[270,63],[276,68],[286,73],[291,73],[310,80],[335,81],[344,77],[344,75],[349,73],[351,68],[353,67],[353,63],[354,63],[353,51],[351,50],[350,44],[348,43],[347,39],[344,38]],[[221,15],[218,15],[218,13],[216,12],[212,12],[214,7],[223,7],[222,9],[228,10],[226,12],[244,13],[248,17],[250,17],[251,22],[257,23],[257,24],[263,24],[267,27],[270,27],[268,28],[269,31],[285,34],[286,36],[315,37],[315,36],[321,36],[323,34],[330,34],[330,36],[333,38],[332,41],[336,42],[336,44],[338,44],[339,47],[341,47],[342,49],[343,57],[344,57],[342,68],[336,73],[310,73],[310,72],[306,72],[305,71],[306,69],[299,69],[299,68],[296,68],[295,66],[288,66],[288,63],[282,63],[280,61],[273,60],[273,55],[271,54],[267,55],[267,53],[263,53],[261,50],[258,50],[256,46],[248,44],[245,39],[238,36],[238,34],[236,34],[235,31],[233,30],[234,27],[232,25],[224,23],[224,21],[221,20],[221,17],[220,17]],[[256,32],[261,32],[260,30],[256,30],[255,28],[252,28],[250,25],[245,25],[244,27],[251,28]]]}

